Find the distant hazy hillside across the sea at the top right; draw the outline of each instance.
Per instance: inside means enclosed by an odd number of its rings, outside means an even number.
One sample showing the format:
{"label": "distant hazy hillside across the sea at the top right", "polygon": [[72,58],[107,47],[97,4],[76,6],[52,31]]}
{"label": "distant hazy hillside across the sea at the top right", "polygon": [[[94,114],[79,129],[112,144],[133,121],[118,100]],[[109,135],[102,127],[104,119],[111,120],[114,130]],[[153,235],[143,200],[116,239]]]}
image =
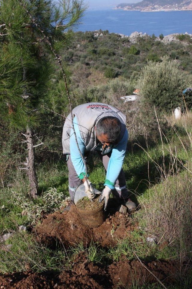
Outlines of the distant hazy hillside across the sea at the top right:
{"label": "distant hazy hillside across the sea at the top right", "polygon": [[121,3],[116,9],[161,11],[161,10],[192,10],[192,0],[143,0],[138,3]]}

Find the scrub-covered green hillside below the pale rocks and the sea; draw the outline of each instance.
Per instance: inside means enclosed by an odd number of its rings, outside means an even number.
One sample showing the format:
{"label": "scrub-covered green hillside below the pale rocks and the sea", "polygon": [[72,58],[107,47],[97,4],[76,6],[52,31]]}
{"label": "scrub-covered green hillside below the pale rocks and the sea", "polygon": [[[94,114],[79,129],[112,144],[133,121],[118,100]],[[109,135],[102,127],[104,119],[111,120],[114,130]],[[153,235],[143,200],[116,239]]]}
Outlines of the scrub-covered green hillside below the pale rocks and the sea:
{"label": "scrub-covered green hillside below the pale rocks and the sea", "polygon": [[[84,77],[91,84],[94,84],[93,81],[96,81],[96,85],[102,84],[106,78],[118,76],[132,81],[148,60],[161,61],[164,55],[177,59],[183,71],[192,71],[192,41],[187,35],[180,38],[181,41],[164,44],[155,35],[138,37],[137,43],[132,43],[129,38],[121,38],[115,33],[100,31],[98,34],[101,33],[103,36],[95,37],[96,32],[76,32],[75,41],[64,54],[64,60],[73,72],[79,63]],[[184,42],[188,45],[184,45]],[[99,78],[98,72],[103,79]]]}

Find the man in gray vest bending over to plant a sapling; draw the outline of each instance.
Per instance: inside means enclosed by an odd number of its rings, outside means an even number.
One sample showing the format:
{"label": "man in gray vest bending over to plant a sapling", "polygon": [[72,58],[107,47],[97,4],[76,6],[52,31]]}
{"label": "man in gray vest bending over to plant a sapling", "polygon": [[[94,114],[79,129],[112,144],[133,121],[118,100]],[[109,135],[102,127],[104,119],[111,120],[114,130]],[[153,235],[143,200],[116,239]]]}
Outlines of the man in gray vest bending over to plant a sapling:
{"label": "man in gray vest bending over to plant a sapling", "polygon": [[[122,165],[128,142],[125,115],[113,106],[104,103],[85,103],[77,106],[72,111],[73,125],[76,132],[78,146],[76,144],[72,128],[71,115],[68,115],[63,127],[63,153],[67,154],[67,166],[69,170],[69,194],[73,202],[75,188],[83,182],[88,198],[95,197],[94,188],[85,177],[85,164],[79,153],[84,156],[85,162],[90,151],[97,150],[105,170],[106,180],[100,201],[105,200],[107,208],[110,192],[112,191],[129,211],[135,211],[136,204],[128,197],[125,175]],[[87,180],[87,181],[86,181]],[[89,187],[88,185],[89,184]],[[67,210],[70,208],[66,208]]]}

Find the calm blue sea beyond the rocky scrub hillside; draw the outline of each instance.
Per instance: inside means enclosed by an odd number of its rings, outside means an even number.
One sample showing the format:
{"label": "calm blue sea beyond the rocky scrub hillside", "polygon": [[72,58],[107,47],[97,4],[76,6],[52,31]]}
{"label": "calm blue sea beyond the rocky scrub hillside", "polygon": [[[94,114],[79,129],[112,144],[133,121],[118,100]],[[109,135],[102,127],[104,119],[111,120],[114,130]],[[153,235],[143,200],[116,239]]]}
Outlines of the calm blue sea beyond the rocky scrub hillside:
{"label": "calm blue sea beyond the rocky scrub hillside", "polygon": [[125,11],[113,8],[88,9],[78,31],[109,30],[130,35],[143,32],[155,36],[172,33],[192,34],[192,11]]}

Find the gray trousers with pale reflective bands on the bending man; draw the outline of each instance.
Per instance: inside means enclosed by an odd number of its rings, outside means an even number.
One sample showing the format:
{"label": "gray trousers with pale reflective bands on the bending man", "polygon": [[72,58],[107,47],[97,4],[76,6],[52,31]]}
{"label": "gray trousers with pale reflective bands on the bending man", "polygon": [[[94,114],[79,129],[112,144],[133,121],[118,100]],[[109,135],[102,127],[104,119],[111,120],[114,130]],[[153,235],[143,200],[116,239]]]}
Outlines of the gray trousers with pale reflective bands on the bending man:
{"label": "gray trousers with pale reflective bands on the bending man", "polygon": [[[88,154],[89,153],[85,153],[84,155],[85,162],[87,162]],[[98,154],[103,162],[105,171],[107,171],[111,152],[107,155],[102,155],[101,152],[98,151]],[[82,180],[80,180],[76,174],[70,155],[68,155],[67,166],[69,170],[69,194],[70,194],[71,199],[73,199],[73,192],[75,188],[82,182]],[[128,198],[128,190],[126,189],[125,174],[123,172],[123,169],[121,169],[120,171],[119,177],[115,184],[115,189],[112,190],[112,192],[118,198],[122,198],[122,199]]]}

